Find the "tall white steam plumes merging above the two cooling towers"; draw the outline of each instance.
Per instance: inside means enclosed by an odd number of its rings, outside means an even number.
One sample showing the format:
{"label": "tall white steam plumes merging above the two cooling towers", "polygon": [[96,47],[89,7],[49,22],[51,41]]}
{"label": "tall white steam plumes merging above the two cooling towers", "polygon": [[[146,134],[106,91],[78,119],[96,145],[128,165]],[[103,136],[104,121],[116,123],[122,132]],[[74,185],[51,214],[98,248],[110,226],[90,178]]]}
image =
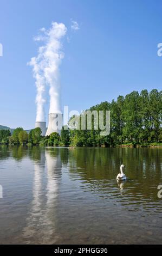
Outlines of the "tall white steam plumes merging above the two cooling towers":
{"label": "tall white steam plumes merging above the two cooling towers", "polygon": [[45,121],[44,103],[46,85],[49,85],[50,107],[49,113],[59,113],[60,103],[60,82],[59,66],[64,53],[62,52],[61,39],[67,33],[63,23],[52,22],[49,30],[42,28],[40,34],[34,40],[42,41],[44,44],[38,48],[37,57],[31,58],[29,65],[33,66],[33,74],[36,80],[36,121]]}

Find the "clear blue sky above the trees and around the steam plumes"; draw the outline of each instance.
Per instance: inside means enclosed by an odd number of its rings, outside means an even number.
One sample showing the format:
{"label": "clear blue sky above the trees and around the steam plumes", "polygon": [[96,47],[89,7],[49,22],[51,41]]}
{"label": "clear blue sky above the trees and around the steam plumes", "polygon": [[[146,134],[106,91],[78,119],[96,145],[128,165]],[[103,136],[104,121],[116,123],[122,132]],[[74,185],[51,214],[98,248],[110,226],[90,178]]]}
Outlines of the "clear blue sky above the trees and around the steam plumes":
{"label": "clear blue sky above the trees and around the steam plumes", "polygon": [[[0,124],[34,127],[36,88],[27,62],[37,54],[34,35],[52,21],[63,22],[70,38],[60,66],[62,105],[69,110],[161,89],[161,12],[160,0],[1,0]],[[80,26],[75,33],[71,19]],[[48,108],[47,101],[47,117]]]}

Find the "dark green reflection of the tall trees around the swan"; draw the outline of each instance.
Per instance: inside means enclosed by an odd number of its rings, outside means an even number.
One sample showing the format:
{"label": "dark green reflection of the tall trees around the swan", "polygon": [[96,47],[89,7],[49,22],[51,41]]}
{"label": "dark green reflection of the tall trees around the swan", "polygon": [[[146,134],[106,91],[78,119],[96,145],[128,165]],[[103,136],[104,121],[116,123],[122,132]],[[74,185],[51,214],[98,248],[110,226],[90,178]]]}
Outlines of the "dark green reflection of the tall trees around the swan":
{"label": "dark green reflection of the tall trees around the swan", "polygon": [[[70,173],[77,173],[84,189],[102,194],[102,198],[119,198],[123,203],[151,206],[160,201],[157,186],[162,182],[161,149],[78,148],[69,152]],[[120,164],[126,165],[129,180],[122,186],[120,198],[116,175]],[[120,187],[119,187],[120,189]]]}

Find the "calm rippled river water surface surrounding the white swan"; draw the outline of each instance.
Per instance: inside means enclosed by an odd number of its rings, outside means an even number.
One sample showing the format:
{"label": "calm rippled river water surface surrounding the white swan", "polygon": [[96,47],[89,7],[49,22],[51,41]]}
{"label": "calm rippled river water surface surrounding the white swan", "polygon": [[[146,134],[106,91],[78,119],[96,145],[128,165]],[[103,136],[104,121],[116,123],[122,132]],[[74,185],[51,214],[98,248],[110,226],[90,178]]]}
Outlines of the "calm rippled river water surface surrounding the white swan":
{"label": "calm rippled river water surface surrounding the white swan", "polygon": [[162,243],[162,149],[1,146],[0,184],[1,244]]}

